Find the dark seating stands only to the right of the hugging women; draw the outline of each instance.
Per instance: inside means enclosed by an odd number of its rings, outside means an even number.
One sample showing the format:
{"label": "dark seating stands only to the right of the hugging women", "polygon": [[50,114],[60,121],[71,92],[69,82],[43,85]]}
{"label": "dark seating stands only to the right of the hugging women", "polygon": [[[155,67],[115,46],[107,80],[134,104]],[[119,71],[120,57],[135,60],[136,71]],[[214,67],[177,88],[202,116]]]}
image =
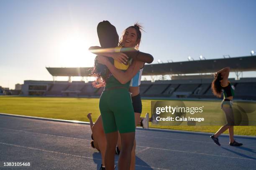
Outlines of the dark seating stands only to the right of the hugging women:
{"label": "dark seating stands only to the right of the hugging women", "polygon": [[[235,87],[235,98],[239,100],[256,100],[256,78],[229,79]],[[199,83],[201,82],[201,83]],[[141,82],[142,97],[182,97],[182,98],[216,98],[212,94],[212,79],[205,80],[167,80],[154,83]]]}

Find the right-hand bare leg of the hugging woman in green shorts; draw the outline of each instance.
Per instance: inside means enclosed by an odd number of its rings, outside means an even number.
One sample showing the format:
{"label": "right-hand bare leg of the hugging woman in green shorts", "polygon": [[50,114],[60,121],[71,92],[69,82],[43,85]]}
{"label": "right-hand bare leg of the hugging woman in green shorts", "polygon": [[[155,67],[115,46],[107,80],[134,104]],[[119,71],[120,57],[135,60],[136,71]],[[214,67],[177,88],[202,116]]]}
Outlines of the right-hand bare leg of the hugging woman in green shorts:
{"label": "right-hand bare leg of the hugging woman in green shorts", "polygon": [[120,133],[122,150],[119,155],[118,169],[130,170],[131,166],[131,151],[133,149],[133,142],[135,139],[135,132]]}

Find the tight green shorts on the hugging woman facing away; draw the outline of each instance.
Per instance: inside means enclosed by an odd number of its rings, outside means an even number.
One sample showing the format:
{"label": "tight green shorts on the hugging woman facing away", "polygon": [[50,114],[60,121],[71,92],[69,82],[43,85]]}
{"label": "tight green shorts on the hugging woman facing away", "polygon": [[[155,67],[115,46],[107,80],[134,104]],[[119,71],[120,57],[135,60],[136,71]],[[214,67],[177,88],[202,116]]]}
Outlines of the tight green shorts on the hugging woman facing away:
{"label": "tight green shorts on the hugging woman facing away", "polygon": [[100,96],[100,114],[105,133],[135,132],[133,105],[127,89],[103,91]]}

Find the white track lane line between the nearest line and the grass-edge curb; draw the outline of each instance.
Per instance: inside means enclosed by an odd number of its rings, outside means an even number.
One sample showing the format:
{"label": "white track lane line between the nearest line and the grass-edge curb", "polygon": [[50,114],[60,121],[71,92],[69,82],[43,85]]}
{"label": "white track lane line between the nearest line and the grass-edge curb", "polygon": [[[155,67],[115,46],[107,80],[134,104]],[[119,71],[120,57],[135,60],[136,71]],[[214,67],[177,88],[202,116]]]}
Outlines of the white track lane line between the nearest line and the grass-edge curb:
{"label": "white track lane line between the nearest line and the grass-edge curb", "polygon": [[[7,128],[0,128],[0,129],[12,130],[12,129],[7,129]],[[20,131],[20,130],[13,130],[13,131]],[[20,131],[20,132],[23,132],[23,133],[34,133],[34,132],[25,132],[25,131]],[[34,134],[49,135],[49,134],[45,134],[45,133],[34,133]],[[87,139],[71,138],[71,137],[58,136],[58,135],[49,135],[49,136],[60,137],[60,138],[69,138],[69,139],[78,139],[78,140],[87,140]],[[89,141],[91,141],[91,140],[89,140]],[[214,155],[214,154],[208,154],[208,153],[197,153],[197,152],[190,152],[190,151],[183,151],[183,150],[171,150],[171,149],[164,149],[164,148],[145,147],[145,146],[138,146],[138,145],[136,145],[136,147],[148,148],[148,149],[156,149],[156,150],[168,150],[168,151],[181,152],[181,153],[192,153],[192,154],[199,154],[199,155],[218,156],[218,157],[225,157],[225,158],[236,158],[236,159],[244,159],[244,160],[256,160],[256,159],[250,159],[250,158],[231,157],[231,156]]]}

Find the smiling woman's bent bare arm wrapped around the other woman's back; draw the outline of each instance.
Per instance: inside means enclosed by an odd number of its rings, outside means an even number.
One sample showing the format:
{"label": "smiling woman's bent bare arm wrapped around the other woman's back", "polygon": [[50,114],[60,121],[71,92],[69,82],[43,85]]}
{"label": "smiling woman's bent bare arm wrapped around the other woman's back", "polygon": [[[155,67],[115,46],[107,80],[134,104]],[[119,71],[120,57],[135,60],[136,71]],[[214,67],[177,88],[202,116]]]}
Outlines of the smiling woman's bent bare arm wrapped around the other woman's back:
{"label": "smiling woman's bent bare arm wrapped around the other woman's back", "polygon": [[122,70],[117,69],[110,61],[104,58],[104,56],[97,56],[97,60],[108,67],[113,76],[121,83],[125,84],[130,81],[137,72],[143,67],[144,63],[141,61],[134,60],[133,63],[128,67],[128,69],[123,72]]}

